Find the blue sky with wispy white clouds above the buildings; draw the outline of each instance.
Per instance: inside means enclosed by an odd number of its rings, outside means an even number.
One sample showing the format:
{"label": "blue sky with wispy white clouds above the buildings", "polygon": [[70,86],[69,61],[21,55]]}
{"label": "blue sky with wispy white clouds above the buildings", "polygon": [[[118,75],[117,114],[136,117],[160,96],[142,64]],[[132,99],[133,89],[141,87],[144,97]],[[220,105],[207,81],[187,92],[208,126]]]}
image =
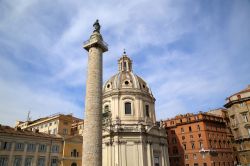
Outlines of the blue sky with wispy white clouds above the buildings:
{"label": "blue sky with wispy white clouds above the buildings", "polygon": [[0,123],[84,111],[87,52],[100,20],[104,80],[125,48],[159,119],[222,107],[250,84],[247,0],[0,1]]}

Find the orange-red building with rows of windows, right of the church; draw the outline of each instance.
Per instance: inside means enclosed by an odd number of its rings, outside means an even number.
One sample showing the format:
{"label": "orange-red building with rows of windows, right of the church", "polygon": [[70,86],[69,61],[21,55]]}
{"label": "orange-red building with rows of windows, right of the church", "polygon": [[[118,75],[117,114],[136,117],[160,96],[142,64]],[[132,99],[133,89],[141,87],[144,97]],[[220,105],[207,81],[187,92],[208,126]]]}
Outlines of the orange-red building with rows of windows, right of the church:
{"label": "orange-red building with rows of windows, right of the church", "polygon": [[233,166],[232,135],[223,117],[178,115],[164,121],[171,166]]}

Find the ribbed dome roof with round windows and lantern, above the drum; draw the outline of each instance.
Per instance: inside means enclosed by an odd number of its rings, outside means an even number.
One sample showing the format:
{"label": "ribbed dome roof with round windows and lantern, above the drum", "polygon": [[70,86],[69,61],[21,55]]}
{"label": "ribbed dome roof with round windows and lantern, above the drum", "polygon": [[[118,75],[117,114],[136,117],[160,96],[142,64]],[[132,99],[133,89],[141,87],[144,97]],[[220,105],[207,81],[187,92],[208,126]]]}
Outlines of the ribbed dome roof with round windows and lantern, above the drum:
{"label": "ribbed dome roof with round windows and lantern, above the drum", "polygon": [[118,60],[119,72],[113,75],[103,86],[103,93],[111,91],[142,92],[153,97],[147,83],[132,71],[132,61],[124,54]]}

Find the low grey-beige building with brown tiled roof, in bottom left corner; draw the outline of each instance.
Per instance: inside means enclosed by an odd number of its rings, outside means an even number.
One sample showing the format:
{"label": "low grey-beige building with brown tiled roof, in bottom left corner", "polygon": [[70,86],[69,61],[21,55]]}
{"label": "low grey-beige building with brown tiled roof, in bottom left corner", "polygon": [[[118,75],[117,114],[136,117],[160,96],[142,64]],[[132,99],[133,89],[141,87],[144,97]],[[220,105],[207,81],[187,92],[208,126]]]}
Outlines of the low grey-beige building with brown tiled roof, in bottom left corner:
{"label": "low grey-beige building with brown tiled roof, in bottom left corner", "polygon": [[0,125],[1,166],[59,166],[62,150],[62,138]]}

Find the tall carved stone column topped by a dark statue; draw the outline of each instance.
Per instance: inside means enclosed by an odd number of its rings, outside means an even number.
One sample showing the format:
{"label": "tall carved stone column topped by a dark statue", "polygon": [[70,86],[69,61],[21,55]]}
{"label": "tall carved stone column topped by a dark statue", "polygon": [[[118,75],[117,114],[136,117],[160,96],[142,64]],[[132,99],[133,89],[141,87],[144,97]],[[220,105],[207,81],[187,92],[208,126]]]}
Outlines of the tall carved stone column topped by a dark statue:
{"label": "tall carved stone column topped by a dark statue", "polygon": [[100,34],[98,20],[94,31],[83,45],[88,51],[88,75],[83,131],[83,166],[102,165],[102,53],[108,51]]}

